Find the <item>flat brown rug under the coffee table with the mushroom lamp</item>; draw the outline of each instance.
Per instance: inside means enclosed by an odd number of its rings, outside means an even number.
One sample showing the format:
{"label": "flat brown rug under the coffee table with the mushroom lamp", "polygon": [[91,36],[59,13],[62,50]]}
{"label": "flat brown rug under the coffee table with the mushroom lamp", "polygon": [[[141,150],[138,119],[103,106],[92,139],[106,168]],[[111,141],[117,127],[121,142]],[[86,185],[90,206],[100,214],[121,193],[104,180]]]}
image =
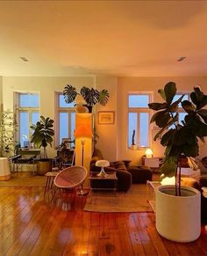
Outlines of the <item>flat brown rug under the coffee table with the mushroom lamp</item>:
{"label": "flat brown rug under the coffee table with the mushroom lamp", "polygon": [[149,201],[153,189],[146,184],[132,184],[125,192],[94,191],[87,198],[85,211],[94,212],[153,212]]}

